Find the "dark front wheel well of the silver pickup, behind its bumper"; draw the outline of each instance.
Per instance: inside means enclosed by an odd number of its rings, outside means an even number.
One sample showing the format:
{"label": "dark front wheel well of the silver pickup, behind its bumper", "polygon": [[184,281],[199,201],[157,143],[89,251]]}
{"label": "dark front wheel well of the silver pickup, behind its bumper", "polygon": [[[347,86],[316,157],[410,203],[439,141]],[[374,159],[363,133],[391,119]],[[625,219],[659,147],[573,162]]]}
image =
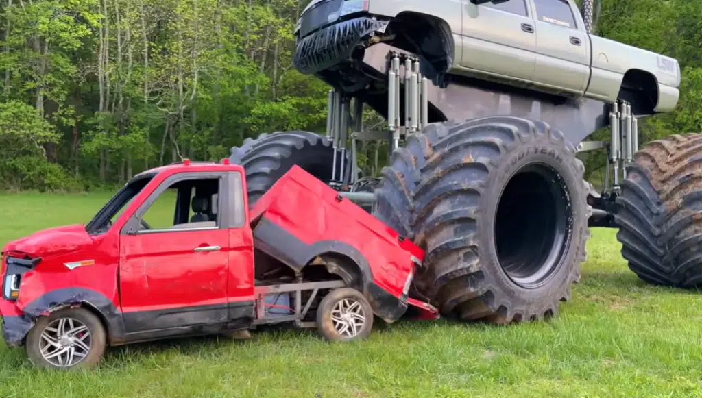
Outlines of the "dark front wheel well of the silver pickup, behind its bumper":
{"label": "dark front wheel well of the silver pickup, behind its bumper", "polygon": [[422,73],[427,79],[448,72],[453,65],[453,34],[445,20],[432,15],[405,11],[397,14],[388,25],[395,34],[392,45],[421,55],[429,68]]}

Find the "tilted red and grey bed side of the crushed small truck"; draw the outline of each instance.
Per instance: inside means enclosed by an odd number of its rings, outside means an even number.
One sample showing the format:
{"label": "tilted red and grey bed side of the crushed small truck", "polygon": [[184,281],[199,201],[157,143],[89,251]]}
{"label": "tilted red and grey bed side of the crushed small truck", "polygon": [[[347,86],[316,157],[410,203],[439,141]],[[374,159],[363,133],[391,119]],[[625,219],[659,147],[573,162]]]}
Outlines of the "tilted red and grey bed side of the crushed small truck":
{"label": "tilted red and grey bed side of the crushed small truck", "polygon": [[256,202],[251,227],[256,248],[298,272],[318,256],[341,259],[379,317],[392,322],[404,314],[423,251],[302,168],[291,168]]}

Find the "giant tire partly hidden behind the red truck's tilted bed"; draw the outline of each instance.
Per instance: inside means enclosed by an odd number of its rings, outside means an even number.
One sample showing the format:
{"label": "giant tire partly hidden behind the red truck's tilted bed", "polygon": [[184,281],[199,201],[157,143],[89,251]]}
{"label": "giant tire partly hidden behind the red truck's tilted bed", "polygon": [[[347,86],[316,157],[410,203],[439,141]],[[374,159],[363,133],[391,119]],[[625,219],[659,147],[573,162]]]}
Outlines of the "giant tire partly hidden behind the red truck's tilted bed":
{"label": "giant tire partly hidden behind the red truck's tilted bed", "polygon": [[[293,166],[300,166],[324,183],[329,183],[333,157],[332,142],[324,135],[310,131],[263,133],[255,140],[246,138],[241,147],[233,147],[230,151],[230,161],[244,166],[249,207]],[[338,170],[340,155],[336,164]],[[344,166],[347,164],[348,160],[345,160]]]}

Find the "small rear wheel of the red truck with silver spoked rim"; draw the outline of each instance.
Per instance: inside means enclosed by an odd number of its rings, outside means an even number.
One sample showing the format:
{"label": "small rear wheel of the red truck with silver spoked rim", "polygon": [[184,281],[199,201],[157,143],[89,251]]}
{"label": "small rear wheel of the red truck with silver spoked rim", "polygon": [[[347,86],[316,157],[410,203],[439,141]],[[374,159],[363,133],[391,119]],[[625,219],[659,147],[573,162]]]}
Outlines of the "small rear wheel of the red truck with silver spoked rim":
{"label": "small rear wheel of the red truck with silver spoked rim", "polygon": [[[349,303],[349,305],[345,305],[344,302]],[[350,310],[350,312],[344,313],[343,307],[345,306],[347,307],[346,310]],[[348,325],[347,329],[353,327],[351,333],[347,335],[343,333],[346,330],[343,329],[343,324],[333,319],[338,318],[333,314],[339,311],[341,312],[340,317],[343,319],[341,322],[346,322]],[[362,315],[364,319],[360,328],[358,328],[358,324],[355,323],[359,319],[352,315],[347,317],[346,314],[349,313]],[[351,321],[353,321],[353,324],[351,324]],[[340,324],[342,326],[337,326]],[[317,329],[319,330],[319,334],[329,341],[363,340],[369,336],[371,329],[373,329],[373,309],[368,300],[363,296],[363,293],[356,289],[335,289],[324,296],[322,303],[319,303],[319,307],[317,308]]]}

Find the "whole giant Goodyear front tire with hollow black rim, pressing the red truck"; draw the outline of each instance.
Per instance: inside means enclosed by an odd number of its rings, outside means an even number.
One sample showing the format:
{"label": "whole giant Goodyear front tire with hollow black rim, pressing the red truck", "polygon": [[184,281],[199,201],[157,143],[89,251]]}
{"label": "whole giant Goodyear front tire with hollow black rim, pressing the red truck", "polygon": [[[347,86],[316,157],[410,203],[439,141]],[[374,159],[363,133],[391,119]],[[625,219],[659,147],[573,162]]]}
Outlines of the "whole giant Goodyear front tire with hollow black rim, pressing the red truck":
{"label": "whole giant Goodyear front tire with hollow black rim, pressing the red truck", "polygon": [[413,288],[442,314],[545,319],[585,260],[583,171],[574,146],[538,121],[430,124],[383,169],[374,214],[425,249]]}

